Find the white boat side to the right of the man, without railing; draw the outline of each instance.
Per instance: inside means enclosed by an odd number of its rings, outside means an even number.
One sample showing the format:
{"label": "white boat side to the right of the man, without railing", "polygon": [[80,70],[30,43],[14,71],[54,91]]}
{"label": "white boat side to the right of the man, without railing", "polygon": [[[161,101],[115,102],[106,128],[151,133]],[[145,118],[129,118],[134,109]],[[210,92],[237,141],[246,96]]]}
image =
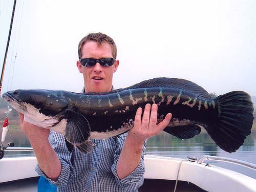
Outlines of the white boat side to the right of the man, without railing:
{"label": "white boat side to the right of the man, without railing", "polygon": [[145,179],[176,180],[178,176],[179,181],[206,191],[256,191],[255,179],[218,166],[159,156],[146,156],[145,166]]}

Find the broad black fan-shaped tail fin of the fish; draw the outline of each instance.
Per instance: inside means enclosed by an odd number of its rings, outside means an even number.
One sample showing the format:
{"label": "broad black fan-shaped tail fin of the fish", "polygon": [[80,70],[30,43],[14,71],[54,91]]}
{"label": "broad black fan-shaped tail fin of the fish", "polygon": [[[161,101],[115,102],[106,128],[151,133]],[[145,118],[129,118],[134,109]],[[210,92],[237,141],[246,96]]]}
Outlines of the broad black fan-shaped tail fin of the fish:
{"label": "broad black fan-shaped tail fin of the fish", "polygon": [[249,94],[233,91],[214,99],[218,103],[218,119],[206,131],[222,150],[232,153],[244,143],[251,133],[253,103]]}

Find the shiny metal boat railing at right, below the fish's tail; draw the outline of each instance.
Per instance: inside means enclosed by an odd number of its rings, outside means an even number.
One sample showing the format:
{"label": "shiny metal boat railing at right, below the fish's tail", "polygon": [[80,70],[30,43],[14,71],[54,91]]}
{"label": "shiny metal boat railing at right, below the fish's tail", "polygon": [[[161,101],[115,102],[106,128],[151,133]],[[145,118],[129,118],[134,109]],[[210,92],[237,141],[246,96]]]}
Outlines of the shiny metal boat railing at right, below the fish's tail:
{"label": "shiny metal boat railing at right, below the fish's tail", "polygon": [[227,162],[227,163],[233,163],[233,164],[241,165],[241,166],[256,170],[256,165],[253,164],[253,163],[249,163],[249,162],[238,160],[238,159],[232,159],[232,158],[228,158],[228,157],[204,155],[204,156],[202,156],[198,159],[197,163],[202,164],[204,162],[204,160],[222,161],[222,162]]}

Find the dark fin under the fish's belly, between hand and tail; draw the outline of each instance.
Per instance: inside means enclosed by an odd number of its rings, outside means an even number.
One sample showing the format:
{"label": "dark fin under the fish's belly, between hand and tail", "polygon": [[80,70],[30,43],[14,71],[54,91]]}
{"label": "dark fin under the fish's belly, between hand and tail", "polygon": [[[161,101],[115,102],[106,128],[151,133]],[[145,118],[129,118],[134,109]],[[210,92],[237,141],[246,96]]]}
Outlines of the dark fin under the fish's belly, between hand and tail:
{"label": "dark fin under the fish's belly, between hand and tail", "polygon": [[171,134],[179,139],[190,139],[200,134],[201,128],[196,124],[180,125],[180,126],[167,126],[163,131]]}

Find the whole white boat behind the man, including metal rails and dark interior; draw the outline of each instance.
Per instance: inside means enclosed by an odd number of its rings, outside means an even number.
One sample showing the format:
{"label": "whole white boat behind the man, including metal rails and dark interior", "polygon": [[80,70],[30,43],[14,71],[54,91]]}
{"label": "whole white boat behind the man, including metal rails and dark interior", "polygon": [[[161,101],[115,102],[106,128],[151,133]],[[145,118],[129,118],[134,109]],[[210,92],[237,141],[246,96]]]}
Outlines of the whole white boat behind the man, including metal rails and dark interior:
{"label": "whole white boat behind the man, including metal rails and dark interior", "polygon": [[[1,191],[35,191],[39,176],[35,172],[37,161],[33,156],[33,149],[7,146],[5,151],[31,152],[31,156],[3,157],[0,160]],[[204,162],[208,160],[235,163],[256,171],[255,164],[225,157],[202,156],[199,159],[180,159],[145,155],[144,184],[139,191],[256,192],[256,179]]]}

